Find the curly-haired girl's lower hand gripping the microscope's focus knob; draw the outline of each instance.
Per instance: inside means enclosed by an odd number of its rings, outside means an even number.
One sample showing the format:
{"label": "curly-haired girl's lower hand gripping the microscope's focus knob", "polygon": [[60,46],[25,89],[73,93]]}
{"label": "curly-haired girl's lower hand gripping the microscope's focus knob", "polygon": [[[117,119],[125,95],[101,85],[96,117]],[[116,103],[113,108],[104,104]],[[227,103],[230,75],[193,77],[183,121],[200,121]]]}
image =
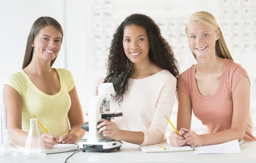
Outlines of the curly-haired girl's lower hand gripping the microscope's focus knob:
{"label": "curly-haired girl's lower hand gripping the microscope's focus knob", "polygon": [[116,123],[102,119],[102,123],[100,123],[97,128],[99,129],[99,133],[102,133],[103,136],[111,137],[116,141],[121,140],[122,130],[116,126]]}

